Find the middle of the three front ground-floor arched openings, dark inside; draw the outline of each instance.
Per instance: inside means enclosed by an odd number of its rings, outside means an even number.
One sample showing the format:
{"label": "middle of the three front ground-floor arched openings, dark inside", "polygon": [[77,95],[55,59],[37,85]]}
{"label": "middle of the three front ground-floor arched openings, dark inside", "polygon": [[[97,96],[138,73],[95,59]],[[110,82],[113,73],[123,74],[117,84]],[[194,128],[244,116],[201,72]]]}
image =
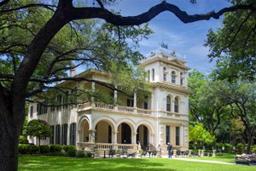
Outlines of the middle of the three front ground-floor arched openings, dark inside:
{"label": "middle of the three front ground-floor arched openings, dark inside", "polygon": [[131,144],[131,128],[127,123],[119,124],[118,143]]}

